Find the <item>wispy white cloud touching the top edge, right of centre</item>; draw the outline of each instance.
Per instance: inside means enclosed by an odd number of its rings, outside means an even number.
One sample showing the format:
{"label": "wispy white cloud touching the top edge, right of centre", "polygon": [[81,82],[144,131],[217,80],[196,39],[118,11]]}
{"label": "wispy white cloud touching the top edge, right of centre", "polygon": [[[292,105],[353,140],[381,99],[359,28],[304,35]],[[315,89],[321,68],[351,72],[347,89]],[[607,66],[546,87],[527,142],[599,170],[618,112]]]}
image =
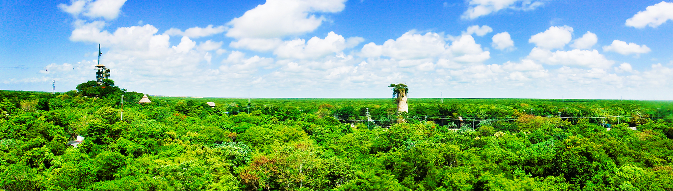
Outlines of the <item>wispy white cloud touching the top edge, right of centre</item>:
{"label": "wispy white cloud touching the top edge, right of centre", "polygon": [[470,7],[461,16],[462,19],[473,20],[502,9],[532,10],[543,4],[534,0],[470,0],[469,2]]}

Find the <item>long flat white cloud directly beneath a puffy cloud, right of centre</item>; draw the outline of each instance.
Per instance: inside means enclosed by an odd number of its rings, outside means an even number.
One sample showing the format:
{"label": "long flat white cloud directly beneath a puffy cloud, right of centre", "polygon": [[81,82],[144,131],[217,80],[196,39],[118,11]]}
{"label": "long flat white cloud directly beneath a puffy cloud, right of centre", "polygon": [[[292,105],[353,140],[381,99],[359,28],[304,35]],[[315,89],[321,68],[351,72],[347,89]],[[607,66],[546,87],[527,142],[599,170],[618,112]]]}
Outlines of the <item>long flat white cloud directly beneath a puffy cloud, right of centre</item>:
{"label": "long flat white cloud directly beneath a puffy cloud, right of centre", "polygon": [[614,61],[605,58],[598,50],[557,50],[551,52],[543,48],[533,48],[528,55],[528,59],[540,61],[547,65],[563,65],[573,67],[588,67],[606,69],[614,65]]}

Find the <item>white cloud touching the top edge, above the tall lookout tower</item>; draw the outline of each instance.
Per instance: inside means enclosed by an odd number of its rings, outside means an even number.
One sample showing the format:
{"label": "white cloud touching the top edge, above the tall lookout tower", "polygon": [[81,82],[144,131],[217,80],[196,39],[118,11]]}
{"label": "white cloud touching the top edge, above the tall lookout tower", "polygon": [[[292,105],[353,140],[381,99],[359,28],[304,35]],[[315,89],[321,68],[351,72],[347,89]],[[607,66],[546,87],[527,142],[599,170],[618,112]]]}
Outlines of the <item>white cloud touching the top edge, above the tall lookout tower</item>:
{"label": "white cloud touching the top edge, above the tall lookout tower", "polygon": [[59,4],[58,7],[74,17],[80,14],[92,19],[103,17],[106,20],[114,20],[118,17],[120,9],[127,0],[73,0],[70,5]]}

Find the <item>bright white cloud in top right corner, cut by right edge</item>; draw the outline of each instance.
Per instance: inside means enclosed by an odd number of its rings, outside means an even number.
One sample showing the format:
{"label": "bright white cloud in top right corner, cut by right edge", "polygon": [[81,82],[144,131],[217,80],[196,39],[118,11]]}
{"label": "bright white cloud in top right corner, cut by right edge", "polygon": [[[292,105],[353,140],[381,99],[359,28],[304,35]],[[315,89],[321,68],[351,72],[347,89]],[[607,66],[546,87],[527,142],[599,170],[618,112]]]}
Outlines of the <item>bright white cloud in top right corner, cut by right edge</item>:
{"label": "bright white cloud in top right corner, cut by right edge", "polygon": [[638,11],[626,22],[627,26],[635,28],[657,28],[668,20],[673,20],[673,3],[662,1],[651,6],[647,6],[645,11]]}

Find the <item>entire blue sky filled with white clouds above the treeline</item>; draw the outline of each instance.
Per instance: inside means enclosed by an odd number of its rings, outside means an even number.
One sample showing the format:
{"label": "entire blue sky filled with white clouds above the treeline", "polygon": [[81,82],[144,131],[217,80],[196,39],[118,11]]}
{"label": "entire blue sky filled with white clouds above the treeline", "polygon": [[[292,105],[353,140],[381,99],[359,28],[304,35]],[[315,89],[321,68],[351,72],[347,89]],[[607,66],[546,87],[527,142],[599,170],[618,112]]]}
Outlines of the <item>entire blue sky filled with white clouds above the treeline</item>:
{"label": "entire blue sky filled with white clouds above the treeline", "polygon": [[[0,89],[673,100],[673,2],[7,0]],[[18,67],[18,69],[17,69]]]}

